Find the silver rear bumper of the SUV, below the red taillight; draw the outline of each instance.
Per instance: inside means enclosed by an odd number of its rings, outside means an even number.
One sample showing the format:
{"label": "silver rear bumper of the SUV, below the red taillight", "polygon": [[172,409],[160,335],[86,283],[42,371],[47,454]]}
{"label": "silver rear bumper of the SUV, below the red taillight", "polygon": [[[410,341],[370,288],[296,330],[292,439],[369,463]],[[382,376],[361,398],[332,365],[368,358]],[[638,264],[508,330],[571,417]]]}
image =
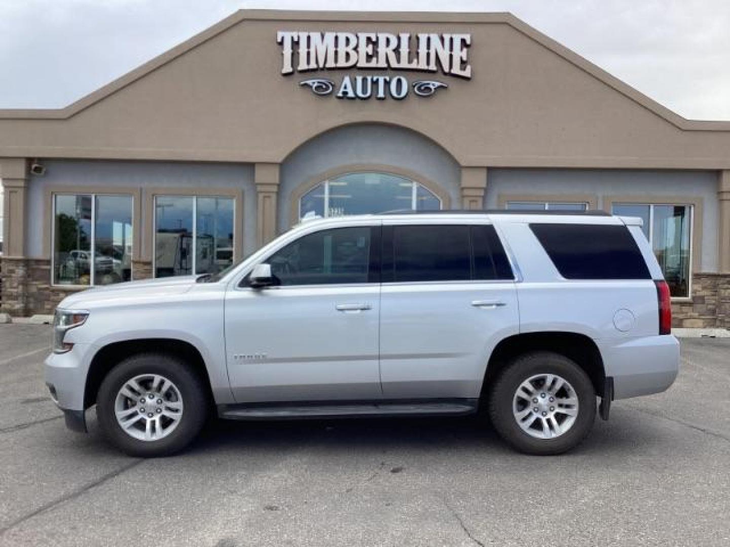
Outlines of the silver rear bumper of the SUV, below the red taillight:
{"label": "silver rear bumper of the SUV, below the red taillight", "polygon": [[614,399],[663,392],[677,378],[680,344],[672,335],[597,342]]}

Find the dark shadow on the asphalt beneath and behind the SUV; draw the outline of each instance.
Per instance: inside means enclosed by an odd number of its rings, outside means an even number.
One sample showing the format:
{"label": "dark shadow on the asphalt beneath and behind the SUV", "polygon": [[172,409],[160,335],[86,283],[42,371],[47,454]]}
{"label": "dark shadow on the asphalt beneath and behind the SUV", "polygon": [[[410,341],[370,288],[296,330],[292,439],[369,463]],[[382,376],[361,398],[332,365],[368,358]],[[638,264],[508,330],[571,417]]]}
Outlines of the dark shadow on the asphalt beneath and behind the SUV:
{"label": "dark shadow on the asphalt beneath and behind the SUV", "polygon": [[[677,438],[654,416],[637,419],[630,409],[614,411],[610,422],[596,419],[588,438],[569,451],[575,457],[631,457],[676,446]],[[485,456],[529,457],[510,449],[481,416],[418,419],[307,419],[237,422],[211,420],[186,454],[215,451],[270,451],[303,447],[328,454],[364,451],[422,451],[428,454],[479,451]]]}

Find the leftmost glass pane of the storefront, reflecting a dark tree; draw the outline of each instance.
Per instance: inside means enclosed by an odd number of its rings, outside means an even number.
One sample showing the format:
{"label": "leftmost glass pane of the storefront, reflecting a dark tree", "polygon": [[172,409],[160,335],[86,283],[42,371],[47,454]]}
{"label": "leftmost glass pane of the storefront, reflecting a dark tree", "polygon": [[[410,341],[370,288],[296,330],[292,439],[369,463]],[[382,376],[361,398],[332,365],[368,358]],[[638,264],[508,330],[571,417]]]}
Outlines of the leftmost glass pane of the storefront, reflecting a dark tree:
{"label": "leftmost glass pane of the storefront, reflecting a dark tree", "polygon": [[56,195],[53,282],[91,284],[91,195]]}

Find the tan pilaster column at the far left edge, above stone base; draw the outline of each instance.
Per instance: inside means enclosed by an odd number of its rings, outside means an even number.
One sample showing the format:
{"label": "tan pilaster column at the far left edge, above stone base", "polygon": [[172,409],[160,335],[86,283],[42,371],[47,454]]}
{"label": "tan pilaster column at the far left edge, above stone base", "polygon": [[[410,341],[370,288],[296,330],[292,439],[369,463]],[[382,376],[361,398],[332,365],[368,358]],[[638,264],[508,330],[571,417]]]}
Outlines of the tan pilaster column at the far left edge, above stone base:
{"label": "tan pilaster column at the far left edge, above stone base", "polygon": [[3,255],[9,258],[26,255],[26,187],[28,162],[22,158],[0,160],[3,199]]}

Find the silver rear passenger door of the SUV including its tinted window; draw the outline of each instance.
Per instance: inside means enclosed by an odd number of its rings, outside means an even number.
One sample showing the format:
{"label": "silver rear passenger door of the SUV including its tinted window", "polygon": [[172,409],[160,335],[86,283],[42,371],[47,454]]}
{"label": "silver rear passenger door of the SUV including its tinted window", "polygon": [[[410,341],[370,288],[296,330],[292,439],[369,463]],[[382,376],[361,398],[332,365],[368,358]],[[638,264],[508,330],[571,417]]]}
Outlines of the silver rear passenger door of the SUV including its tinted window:
{"label": "silver rear passenger door of the SUV including its tinted window", "polygon": [[515,279],[492,225],[383,225],[385,398],[478,397],[496,343],[518,332]]}

